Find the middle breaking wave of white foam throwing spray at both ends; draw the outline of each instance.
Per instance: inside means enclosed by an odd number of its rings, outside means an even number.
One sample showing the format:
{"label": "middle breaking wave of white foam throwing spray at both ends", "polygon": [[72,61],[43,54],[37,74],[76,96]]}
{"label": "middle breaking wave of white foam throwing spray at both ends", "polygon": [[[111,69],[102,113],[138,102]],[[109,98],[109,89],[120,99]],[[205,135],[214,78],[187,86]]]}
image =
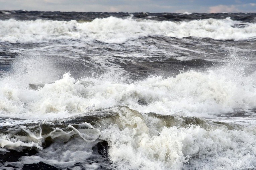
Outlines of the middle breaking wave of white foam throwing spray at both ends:
{"label": "middle breaking wave of white foam throwing spray at both ends", "polygon": [[112,73],[78,79],[65,73],[59,78],[50,61],[41,60],[41,65],[36,57],[16,61],[1,78],[4,117],[53,119],[120,105],[141,113],[197,117],[256,108],[255,72],[245,74],[236,63],[129,82]]}

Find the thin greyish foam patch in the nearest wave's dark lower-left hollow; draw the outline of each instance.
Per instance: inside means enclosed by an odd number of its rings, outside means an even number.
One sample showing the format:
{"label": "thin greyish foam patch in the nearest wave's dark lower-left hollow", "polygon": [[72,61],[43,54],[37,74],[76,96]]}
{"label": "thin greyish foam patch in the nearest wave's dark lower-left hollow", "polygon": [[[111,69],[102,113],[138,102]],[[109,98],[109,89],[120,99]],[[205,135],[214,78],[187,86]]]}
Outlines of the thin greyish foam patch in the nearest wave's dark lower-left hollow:
{"label": "thin greyish foam patch in the nearest wave's dark lower-left hollow", "polygon": [[[93,157],[92,147],[97,142],[99,141],[89,143],[81,138],[71,139],[65,143],[56,142],[41,150],[39,154],[22,157],[20,161],[8,162],[8,164],[22,168],[24,164],[44,162],[60,169],[81,169],[81,167],[90,170],[99,169],[100,166],[97,163],[91,163],[87,160]],[[95,155],[93,158],[95,159],[96,156],[99,155]]]}

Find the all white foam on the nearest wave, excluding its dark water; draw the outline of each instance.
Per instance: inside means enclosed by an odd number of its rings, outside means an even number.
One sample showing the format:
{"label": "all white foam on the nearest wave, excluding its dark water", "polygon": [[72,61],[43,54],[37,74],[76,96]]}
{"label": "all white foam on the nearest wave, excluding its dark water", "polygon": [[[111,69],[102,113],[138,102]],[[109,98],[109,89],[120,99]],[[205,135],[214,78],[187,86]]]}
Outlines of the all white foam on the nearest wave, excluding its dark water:
{"label": "all white foam on the nearest wave, excluding its dark water", "polygon": [[[97,169],[99,164],[95,163],[96,161],[89,164],[88,159],[91,157],[102,159],[97,152],[96,154],[93,152],[92,148],[104,140],[108,143],[108,156],[115,169],[256,168],[254,125],[230,129],[229,126],[219,124],[220,122],[206,122],[203,119],[199,125],[182,125],[184,119],[176,116],[175,121],[169,120],[176,126],[167,126],[163,123],[168,121],[166,117],[162,119],[150,117],[125,106],[112,107],[103,112],[117,114],[113,114],[110,119],[99,120],[99,129],[85,123],[77,124],[85,128],[75,129],[68,125],[65,131],[56,128],[44,135],[41,135],[41,131],[37,131],[39,132],[37,140],[40,141],[40,137],[43,136],[51,137],[55,141],[44,149],[31,141],[35,139],[35,135],[29,133],[28,128],[25,127],[23,129],[28,132],[27,136],[15,135],[16,138],[0,139],[2,147],[22,146],[42,149],[35,155],[21,157],[17,162],[7,161],[5,165],[20,167],[28,163],[44,162],[61,169],[67,167]],[[207,124],[207,127],[204,127],[202,122]],[[17,138],[30,142],[17,142]],[[6,152],[6,150],[1,151]]]}

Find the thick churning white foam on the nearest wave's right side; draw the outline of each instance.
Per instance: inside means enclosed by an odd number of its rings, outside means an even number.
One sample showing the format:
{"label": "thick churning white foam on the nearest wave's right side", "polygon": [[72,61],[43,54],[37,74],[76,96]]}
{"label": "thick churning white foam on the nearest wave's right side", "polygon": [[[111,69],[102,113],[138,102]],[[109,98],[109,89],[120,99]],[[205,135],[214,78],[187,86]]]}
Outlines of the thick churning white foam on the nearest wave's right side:
{"label": "thick churning white foam on the nearest wave's right side", "polygon": [[152,134],[156,126],[148,127],[136,112],[122,108],[119,113],[119,124],[102,131],[117,169],[256,168],[255,126],[243,131],[173,126]]}

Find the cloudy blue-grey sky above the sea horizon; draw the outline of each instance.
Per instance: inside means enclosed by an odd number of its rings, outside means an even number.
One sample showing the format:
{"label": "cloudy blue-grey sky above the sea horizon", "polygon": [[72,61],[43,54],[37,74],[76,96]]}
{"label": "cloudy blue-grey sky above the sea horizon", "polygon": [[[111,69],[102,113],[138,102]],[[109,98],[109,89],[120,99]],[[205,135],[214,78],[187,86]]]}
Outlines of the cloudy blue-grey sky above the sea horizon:
{"label": "cloudy blue-grey sky above the sea horizon", "polygon": [[77,12],[254,12],[256,0],[0,0],[0,10]]}

